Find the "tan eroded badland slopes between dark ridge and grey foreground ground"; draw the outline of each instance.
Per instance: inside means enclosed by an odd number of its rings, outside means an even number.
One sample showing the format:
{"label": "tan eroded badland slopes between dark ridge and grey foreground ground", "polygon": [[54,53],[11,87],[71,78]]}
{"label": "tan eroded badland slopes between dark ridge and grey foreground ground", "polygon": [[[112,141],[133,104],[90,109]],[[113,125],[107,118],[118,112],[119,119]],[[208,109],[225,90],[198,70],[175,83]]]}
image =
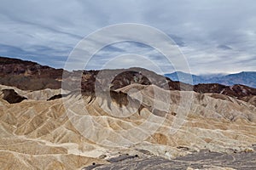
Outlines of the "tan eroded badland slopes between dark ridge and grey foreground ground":
{"label": "tan eroded badland slopes between dark ridge and grey foreground ground", "polygon": [[201,149],[249,152],[256,143],[255,106],[222,94],[131,85],[119,89],[129,105],[108,105],[104,95],[46,101],[60,91],[15,91],[28,100],[0,98],[1,169],[79,169],[119,153],[142,156],[138,149],[167,159]]}

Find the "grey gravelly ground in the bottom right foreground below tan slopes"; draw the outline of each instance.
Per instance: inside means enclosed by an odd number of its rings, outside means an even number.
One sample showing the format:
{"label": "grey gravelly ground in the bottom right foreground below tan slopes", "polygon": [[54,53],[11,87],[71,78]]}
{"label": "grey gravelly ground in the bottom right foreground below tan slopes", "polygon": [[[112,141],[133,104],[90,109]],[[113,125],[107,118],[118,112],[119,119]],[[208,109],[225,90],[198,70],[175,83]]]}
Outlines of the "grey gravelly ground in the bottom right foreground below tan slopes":
{"label": "grey gravelly ground in the bottom right foreground below tan slopes", "polygon": [[123,155],[109,159],[109,164],[91,165],[84,167],[83,170],[131,170],[131,169],[187,169],[188,167],[195,169],[208,169],[211,167],[230,167],[241,170],[256,169],[256,147],[254,151],[239,152],[234,154],[224,154],[211,152],[209,150],[201,150],[188,156],[177,157],[173,160],[166,160],[162,157],[151,156],[128,156]]}

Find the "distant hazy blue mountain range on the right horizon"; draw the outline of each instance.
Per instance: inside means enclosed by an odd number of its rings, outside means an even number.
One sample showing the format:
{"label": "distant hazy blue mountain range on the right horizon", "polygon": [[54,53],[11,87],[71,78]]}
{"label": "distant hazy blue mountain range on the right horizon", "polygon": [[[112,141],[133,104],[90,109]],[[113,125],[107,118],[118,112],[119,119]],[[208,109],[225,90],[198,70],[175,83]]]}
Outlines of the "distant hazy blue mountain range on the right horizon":
{"label": "distant hazy blue mountain range on the right horizon", "polygon": [[[236,74],[214,74],[197,76],[182,71],[172,72],[165,74],[166,77],[172,79],[172,81],[188,82],[191,83],[191,77],[193,85],[199,83],[218,83],[226,86],[232,86],[234,84],[242,84],[252,88],[256,88],[256,71],[242,71]],[[189,81],[190,80],[190,81]]]}

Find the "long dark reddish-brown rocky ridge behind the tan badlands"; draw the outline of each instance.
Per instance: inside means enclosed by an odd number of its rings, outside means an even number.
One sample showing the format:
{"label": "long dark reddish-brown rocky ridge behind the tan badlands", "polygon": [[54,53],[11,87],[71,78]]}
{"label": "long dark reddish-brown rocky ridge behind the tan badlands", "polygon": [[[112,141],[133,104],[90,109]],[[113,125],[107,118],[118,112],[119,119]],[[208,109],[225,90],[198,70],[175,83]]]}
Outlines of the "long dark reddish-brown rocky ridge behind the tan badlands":
{"label": "long dark reddish-brown rocky ridge behind the tan badlands", "polygon": [[[63,73],[64,77],[63,77]],[[108,91],[123,88],[132,83],[143,85],[154,84],[170,90],[195,91],[201,94],[224,94],[236,99],[250,101],[255,104],[256,88],[244,85],[225,86],[218,83],[197,84],[195,86],[183,82],[174,82],[170,78],[160,76],[143,68],[102,70],[102,71],[64,71],[21,59],[0,57],[0,84],[15,86],[24,90],[44,88],[63,88],[77,90],[94,99],[96,90]],[[68,83],[61,86],[61,81]],[[78,86],[79,84],[79,86]],[[61,98],[55,96],[52,99]]]}

